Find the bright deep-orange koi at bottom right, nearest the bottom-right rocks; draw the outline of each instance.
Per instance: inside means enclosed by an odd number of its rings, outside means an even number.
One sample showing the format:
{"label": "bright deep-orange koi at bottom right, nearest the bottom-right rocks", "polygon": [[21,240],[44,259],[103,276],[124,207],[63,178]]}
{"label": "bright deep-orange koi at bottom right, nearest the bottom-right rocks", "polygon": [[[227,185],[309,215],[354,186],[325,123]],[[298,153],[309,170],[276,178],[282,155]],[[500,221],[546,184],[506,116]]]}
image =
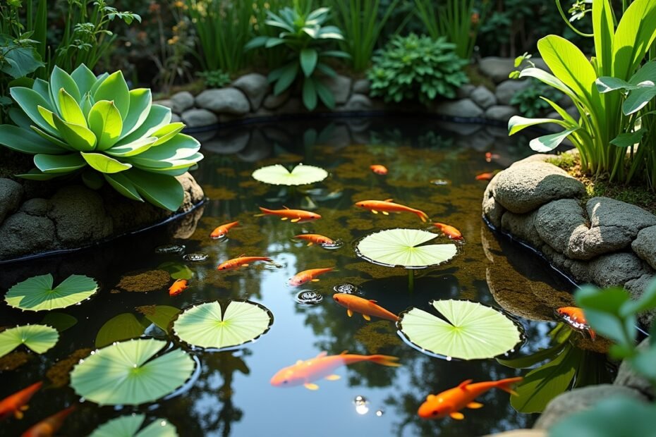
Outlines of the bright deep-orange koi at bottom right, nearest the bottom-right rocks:
{"label": "bright deep-orange koi at bottom right, nearest the bottom-right rocks", "polygon": [[480,383],[472,383],[473,380],[468,379],[455,388],[450,388],[437,395],[428,395],[426,401],[419,407],[419,417],[438,419],[449,416],[451,419],[462,420],[465,416],[460,410],[464,407],[476,409],[483,406],[481,403],[475,402],[475,398],[492,388],[500,388],[511,395],[516,395],[512,386],[521,380],[521,376]]}

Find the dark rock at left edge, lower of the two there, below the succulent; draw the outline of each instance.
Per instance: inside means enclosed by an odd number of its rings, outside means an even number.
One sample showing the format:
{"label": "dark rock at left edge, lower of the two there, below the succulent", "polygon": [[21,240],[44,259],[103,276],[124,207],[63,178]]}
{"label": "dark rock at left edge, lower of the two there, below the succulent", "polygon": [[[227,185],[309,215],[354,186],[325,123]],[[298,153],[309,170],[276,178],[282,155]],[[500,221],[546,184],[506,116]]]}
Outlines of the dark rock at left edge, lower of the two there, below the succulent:
{"label": "dark rock at left edge, lower of the two there, below the succulent", "polygon": [[47,217],[18,212],[0,226],[0,259],[37,254],[56,247],[54,223]]}

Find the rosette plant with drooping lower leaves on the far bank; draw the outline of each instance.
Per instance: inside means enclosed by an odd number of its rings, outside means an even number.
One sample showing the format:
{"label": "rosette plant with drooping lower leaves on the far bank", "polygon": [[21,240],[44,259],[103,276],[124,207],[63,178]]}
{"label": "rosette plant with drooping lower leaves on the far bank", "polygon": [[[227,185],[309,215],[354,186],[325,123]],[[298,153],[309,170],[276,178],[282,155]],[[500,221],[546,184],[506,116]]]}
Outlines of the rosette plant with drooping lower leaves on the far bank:
{"label": "rosette plant with drooping lower leaves on the far bank", "polygon": [[279,13],[267,12],[265,24],[283,30],[277,37],[260,35],[245,45],[245,50],[258,47],[277,47],[283,45],[288,49],[287,62],[269,73],[269,82],[275,83],[274,94],[287,90],[300,76],[303,80],[303,104],[315,109],[317,97],[329,108],[335,106],[335,101],[329,88],[320,79],[320,74],[333,77],[335,70],[327,65],[327,58],[348,58],[349,55],[340,50],[326,50],[324,46],[334,40],[342,40],[344,36],[338,27],[324,25],[329,18],[330,8],[318,8],[311,12],[303,12],[299,6],[283,8]]}

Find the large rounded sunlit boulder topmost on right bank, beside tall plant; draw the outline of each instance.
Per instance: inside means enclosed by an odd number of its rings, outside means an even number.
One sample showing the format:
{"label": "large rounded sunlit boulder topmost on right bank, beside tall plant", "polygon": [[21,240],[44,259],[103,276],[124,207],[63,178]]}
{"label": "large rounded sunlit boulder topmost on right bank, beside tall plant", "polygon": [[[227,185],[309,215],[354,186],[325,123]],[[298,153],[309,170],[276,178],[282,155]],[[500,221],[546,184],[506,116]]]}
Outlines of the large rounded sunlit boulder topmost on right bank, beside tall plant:
{"label": "large rounded sunlit boulder topmost on right bank, beside tall plant", "polygon": [[538,161],[499,173],[494,197],[505,209],[523,214],[552,200],[583,195],[583,183],[557,166]]}

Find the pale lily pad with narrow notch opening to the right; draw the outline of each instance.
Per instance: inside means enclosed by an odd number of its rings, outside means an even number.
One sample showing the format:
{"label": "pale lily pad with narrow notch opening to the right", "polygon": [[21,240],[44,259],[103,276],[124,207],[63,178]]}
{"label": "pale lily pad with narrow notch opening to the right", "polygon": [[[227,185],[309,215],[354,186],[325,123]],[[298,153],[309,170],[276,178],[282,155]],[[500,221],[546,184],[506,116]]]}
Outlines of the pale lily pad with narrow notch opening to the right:
{"label": "pale lily pad with narrow notch opening to the right", "polygon": [[458,252],[453,243],[423,245],[438,236],[419,229],[380,230],[360,240],[356,253],[375,264],[424,269],[449,261]]}

